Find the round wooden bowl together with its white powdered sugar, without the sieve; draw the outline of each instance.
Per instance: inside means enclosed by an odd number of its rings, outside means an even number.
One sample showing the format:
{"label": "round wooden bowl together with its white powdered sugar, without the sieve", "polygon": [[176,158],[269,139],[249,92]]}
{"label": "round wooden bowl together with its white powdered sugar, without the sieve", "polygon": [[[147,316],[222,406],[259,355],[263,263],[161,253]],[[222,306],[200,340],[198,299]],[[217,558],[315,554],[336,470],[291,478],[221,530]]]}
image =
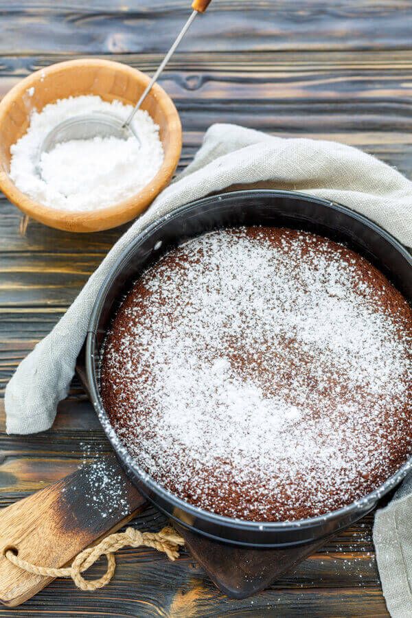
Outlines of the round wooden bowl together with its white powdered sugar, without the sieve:
{"label": "round wooden bowl together with its white powdered sugar, without the sieve", "polygon": [[[54,117],[58,122],[66,107],[68,115],[79,106],[80,111],[102,107],[122,116],[148,81],[144,73],[118,62],[84,59],[60,62],[19,82],[0,103],[1,190],[28,216],[67,231],[109,229],[135,218],[169,183],[181,154],[179,114],[158,85],[137,117],[143,148],[134,148],[131,140],[130,144],[91,140],[84,144],[89,153],[80,157],[69,144],[62,144],[64,148],[50,153],[53,158],[49,155],[43,161],[47,183],[32,169],[32,150],[42,122],[49,126]],[[90,169],[82,163],[88,155],[95,163]],[[130,172],[136,167],[141,169],[140,178]],[[92,195],[93,178],[100,191]]]}

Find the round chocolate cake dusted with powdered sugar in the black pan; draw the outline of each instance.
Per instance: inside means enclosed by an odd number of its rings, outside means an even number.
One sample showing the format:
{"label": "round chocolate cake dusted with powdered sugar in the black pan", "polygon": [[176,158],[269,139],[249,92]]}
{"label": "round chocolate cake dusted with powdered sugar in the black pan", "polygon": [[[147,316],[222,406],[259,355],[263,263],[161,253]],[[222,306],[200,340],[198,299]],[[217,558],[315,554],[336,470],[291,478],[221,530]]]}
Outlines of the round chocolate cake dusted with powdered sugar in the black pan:
{"label": "round chocolate cake dusted with powdered sugar in the black pan", "polygon": [[411,454],[411,339],[411,307],[354,251],[292,229],[213,231],[123,299],[102,400],[179,498],[297,520],[360,499]]}

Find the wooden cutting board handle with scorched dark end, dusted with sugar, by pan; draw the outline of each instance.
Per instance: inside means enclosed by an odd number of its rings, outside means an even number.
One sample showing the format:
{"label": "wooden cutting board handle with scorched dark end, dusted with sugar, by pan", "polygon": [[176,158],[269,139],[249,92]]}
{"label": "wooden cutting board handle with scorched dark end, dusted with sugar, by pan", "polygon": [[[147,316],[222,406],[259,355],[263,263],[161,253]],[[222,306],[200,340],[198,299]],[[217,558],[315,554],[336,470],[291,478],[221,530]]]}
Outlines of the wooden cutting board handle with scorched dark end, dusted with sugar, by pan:
{"label": "wooden cutting board handle with scorched dark end, dusted with sugar, by pan", "polygon": [[42,567],[64,567],[85,547],[116,531],[146,505],[115,455],[88,464],[0,512],[0,602],[14,607],[52,577],[15,567],[4,553]]}

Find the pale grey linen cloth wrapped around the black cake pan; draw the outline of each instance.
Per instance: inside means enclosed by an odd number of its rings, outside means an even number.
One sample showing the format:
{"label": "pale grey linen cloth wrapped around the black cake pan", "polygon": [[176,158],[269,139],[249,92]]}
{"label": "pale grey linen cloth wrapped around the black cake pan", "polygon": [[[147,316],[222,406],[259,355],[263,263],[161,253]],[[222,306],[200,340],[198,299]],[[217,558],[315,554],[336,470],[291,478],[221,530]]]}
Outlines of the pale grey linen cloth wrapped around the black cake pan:
{"label": "pale grey linen cloth wrapped around the black cake pan", "polygon": [[[117,241],[52,332],[20,363],[5,390],[8,433],[36,433],[52,425],[58,402],[67,396],[95,297],[130,241],[172,209],[240,185],[296,190],[341,203],[412,247],[412,183],[389,165],[332,141],[282,139],[240,126],[215,124],[207,130],[192,164]],[[375,534],[388,606],[393,616],[402,618],[412,615],[412,601],[408,601],[409,606],[402,602],[402,598],[412,599],[411,492],[378,514]],[[403,525],[402,529],[398,527],[398,546],[409,549],[403,567],[398,564],[403,579],[398,577],[395,585],[389,577],[394,560],[391,556],[394,553],[399,557],[400,550],[389,547],[392,537],[388,523],[396,516],[394,510],[398,514],[401,508]],[[381,534],[382,528],[385,534]]]}

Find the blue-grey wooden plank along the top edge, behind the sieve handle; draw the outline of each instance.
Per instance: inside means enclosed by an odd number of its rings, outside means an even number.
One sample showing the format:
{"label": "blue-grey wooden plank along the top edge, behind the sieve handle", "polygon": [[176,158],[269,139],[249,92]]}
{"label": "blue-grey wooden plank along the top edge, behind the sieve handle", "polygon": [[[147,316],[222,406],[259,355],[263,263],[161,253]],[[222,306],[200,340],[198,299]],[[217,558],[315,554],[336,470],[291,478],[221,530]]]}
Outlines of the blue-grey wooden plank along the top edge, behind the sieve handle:
{"label": "blue-grey wooden plank along the top edge, behind the sieve handle", "polygon": [[[1,2],[0,53],[165,52],[190,7],[186,0]],[[198,19],[184,51],[409,49],[406,0],[217,0]],[[197,20],[196,20],[197,21]]]}

